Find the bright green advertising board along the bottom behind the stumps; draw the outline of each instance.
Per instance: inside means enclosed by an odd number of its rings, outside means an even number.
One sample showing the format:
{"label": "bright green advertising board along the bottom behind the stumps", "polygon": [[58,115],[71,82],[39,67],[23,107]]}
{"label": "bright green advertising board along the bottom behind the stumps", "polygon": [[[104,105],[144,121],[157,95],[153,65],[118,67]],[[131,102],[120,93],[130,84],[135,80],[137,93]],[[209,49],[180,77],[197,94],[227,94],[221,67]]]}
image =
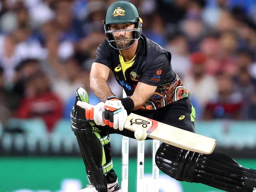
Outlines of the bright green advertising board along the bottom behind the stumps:
{"label": "bright green advertising board along the bottom behind the stumps", "polygon": [[[129,192],[135,192],[136,161],[130,159]],[[238,159],[243,166],[256,169],[255,159]],[[121,159],[113,159],[114,169],[121,183]],[[151,173],[151,159],[145,160],[145,173]],[[20,189],[30,189],[32,192],[47,190],[57,192],[63,179],[73,178],[87,184],[85,168],[79,157],[0,157],[0,192],[14,192]],[[220,192],[214,188],[197,184],[180,182],[184,192]]]}

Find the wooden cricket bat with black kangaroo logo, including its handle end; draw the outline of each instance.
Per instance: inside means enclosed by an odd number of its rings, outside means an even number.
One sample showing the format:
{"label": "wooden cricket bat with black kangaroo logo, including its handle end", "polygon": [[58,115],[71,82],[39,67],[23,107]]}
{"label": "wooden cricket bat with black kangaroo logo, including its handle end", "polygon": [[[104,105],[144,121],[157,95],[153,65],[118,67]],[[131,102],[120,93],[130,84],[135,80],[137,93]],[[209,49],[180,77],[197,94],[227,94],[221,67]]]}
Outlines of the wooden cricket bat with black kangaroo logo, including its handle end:
{"label": "wooden cricket bat with black kangaroo logo, including its handle end", "polygon": [[[89,103],[81,101],[78,101],[77,105],[83,109],[94,107]],[[128,115],[124,128],[131,131],[142,128],[147,131],[147,137],[198,153],[211,154],[217,144],[214,138],[192,133],[134,113]]]}

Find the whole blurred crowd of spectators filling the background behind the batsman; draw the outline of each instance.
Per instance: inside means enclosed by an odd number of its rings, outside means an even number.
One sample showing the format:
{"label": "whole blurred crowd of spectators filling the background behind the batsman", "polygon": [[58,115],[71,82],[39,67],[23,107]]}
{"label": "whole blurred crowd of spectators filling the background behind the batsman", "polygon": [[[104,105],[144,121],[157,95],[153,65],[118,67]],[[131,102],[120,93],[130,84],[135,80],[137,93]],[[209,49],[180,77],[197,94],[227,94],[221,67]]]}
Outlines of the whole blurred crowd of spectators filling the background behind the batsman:
{"label": "whole blurred crowd of spectators filling the background behind the batsman", "polygon": [[[0,0],[0,121],[42,118],[52,131],[89,88],[102,20],[115,0]],[[197,119],[256,120],[254,0],[130,0],[143,33],[172,54]],[[109,86],[121,87],[113,75]],[[100,89],[100,88],[99,88]]]}

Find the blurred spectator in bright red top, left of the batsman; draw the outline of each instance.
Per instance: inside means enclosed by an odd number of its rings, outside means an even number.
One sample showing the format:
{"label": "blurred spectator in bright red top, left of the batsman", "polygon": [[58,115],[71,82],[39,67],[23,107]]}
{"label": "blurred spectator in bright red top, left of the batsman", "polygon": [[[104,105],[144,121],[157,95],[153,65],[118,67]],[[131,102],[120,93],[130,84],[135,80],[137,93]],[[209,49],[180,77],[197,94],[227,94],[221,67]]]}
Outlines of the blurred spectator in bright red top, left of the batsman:
{"label": "blurred spectator in bright red top, left of the batsman", "polygon": [[26,78],[25,96],[16,112],[18,118],[42,118],[49,132],[62,117],[63,105],[50,89],[50,82],[42,71]]}

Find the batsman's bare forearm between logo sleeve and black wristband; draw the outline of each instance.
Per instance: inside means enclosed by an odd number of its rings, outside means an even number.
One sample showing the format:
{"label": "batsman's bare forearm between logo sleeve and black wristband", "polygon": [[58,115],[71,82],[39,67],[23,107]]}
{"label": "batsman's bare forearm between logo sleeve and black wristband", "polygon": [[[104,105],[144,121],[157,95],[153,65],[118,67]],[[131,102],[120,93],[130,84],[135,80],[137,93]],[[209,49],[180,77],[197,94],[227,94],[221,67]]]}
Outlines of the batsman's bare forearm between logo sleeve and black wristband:
{"label": "batsman's bare forearm between logo sleeve and black wristband", "polygon": [[131,96],[134,102],[134,110],[139,109],[154,94],[157,86],[138,82],[134,94]]}

